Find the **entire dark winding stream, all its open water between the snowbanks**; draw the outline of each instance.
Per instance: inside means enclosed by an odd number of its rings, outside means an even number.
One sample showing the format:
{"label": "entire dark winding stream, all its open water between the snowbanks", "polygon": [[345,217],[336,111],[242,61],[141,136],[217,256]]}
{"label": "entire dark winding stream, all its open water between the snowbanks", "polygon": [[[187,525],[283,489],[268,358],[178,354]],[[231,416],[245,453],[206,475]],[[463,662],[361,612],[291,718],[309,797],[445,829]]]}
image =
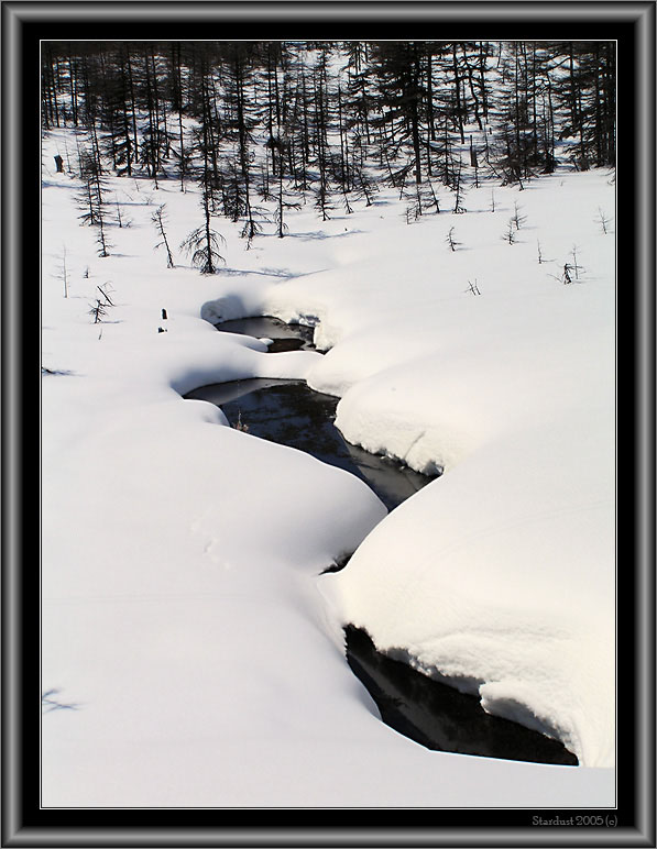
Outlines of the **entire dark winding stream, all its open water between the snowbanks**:
{"label": "entire dark winding stream, all its open water between the snowbanks", "polygon": [[[313,328],[285,324],[269,317],[226,321],[217,328],[272,339],[272,353],[313,349]],[[305,451],[361,477],[388,510],[431,479],[347,442],[333,423],[339,399],[314,392],[304,381],[234,381],[204,386],[185,397],[218,405],[233,427]],[[399,734],[440,751],[578,763],[576,756],[557,740],[491,716],[475,696],[377,652],[365,631],[348,626],[344,633],[351,670],[370,692],[383,721]]]}

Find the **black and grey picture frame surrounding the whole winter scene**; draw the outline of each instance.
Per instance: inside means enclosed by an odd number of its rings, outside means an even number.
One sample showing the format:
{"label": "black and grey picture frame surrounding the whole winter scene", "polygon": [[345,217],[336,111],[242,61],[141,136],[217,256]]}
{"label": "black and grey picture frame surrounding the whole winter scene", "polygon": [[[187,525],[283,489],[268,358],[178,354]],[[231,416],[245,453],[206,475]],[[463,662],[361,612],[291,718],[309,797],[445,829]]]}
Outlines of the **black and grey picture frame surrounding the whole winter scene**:
{"label": "black and grey picture frame surrounding the whole winter scene", "polygon": [[[603,827],[532,825],[567,811],[40,807],[40,42],[194,41],[208,22],[221,40],[402,40],[439,24],[446,41],[468,26],[617,42],[617,805],[578,812]],[[655,846],[655,3],[3,2],[2,89],[2,846]]]}

